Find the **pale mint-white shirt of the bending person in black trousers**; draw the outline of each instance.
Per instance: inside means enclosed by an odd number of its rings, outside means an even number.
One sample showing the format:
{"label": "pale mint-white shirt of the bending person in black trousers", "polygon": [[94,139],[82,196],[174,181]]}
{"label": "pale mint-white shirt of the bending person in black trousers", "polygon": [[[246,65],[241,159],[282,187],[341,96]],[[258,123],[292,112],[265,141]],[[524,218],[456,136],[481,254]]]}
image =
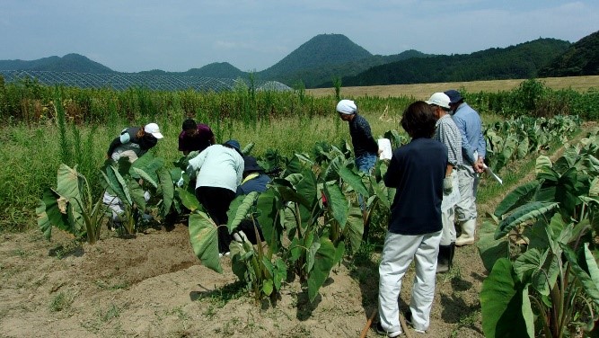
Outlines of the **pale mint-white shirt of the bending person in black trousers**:
{"label": "pale mint-white shirt of the bending person in black trousers", "polygon": [[210,146],[189,160],[186,173],[196,178],[196,189],[216,187],[235,192],[242,183],[243,157],[230,147]]}

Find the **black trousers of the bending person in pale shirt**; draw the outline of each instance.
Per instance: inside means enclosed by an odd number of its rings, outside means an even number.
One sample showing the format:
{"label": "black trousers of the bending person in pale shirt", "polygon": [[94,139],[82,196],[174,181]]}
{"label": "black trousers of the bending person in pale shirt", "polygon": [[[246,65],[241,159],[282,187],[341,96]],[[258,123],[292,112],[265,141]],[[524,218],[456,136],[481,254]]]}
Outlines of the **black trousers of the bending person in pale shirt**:
{"label": "black trousers of the bending person in pale shirt", "polygon": [[226,223],[229,220],[226,212],[229,205],[235,198],[235,191],[218,187],[198,187],[196,189],[196,198],[206,209],[208,216],[214,220],[218,227],[218,252],[225,254],[229,251],[231,244],[231,235]]}

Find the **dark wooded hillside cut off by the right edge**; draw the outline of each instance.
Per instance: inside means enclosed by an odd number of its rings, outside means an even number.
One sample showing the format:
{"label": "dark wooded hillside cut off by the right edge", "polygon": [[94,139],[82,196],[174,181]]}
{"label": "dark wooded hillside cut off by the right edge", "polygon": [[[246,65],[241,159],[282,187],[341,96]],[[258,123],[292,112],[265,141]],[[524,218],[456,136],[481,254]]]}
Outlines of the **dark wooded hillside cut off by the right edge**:
{"label": "dark wooded hillside cut off by the right edge", "polygon": [[599,31],[588,35],[570,46],[547,67],[539,70],[539,76],[597,76],[599,75]]}

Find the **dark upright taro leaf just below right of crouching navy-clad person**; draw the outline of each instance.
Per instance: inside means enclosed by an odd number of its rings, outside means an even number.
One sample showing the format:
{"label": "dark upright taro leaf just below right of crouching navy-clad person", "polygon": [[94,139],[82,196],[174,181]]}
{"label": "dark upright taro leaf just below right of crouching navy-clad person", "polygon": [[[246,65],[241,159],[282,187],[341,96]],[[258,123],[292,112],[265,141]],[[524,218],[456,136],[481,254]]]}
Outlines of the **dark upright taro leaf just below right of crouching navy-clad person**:
{"label": "dark upright taro leaf just below right of crouching navy-clad person", "polygon": [[277,198],[275,190],[269,189],[260,193],[256,203],[256,209],[260,210],[258,223],[262,227],[262,235],[272,252],[277,253],[281,244],[283,228],[277,222]]}

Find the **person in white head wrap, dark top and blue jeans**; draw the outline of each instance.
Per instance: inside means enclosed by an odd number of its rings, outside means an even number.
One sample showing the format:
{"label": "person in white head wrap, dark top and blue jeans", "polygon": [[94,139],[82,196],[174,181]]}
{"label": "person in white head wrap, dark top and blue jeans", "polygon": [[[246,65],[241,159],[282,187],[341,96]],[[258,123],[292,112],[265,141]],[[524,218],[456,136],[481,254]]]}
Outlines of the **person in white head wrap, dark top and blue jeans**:
{"label": "person in white head wrap, dark top and blue jeans", "polygon": [[[354,156],[356,157],[357,170],[363,173],[370,173],[376,164],[376,156],[381,154],[378,143],[373,138],[368,121],[357,113],[356,102],[351,100],[341,100],[337,103],[336,111],[341,120],[349,123],[349,136],[351,145],[354,147]],[[362,218],[364,220],[363,238],[368,238],[367,218],[368,211],[362,196],[358,196],[360,208],[362,209]]]}

